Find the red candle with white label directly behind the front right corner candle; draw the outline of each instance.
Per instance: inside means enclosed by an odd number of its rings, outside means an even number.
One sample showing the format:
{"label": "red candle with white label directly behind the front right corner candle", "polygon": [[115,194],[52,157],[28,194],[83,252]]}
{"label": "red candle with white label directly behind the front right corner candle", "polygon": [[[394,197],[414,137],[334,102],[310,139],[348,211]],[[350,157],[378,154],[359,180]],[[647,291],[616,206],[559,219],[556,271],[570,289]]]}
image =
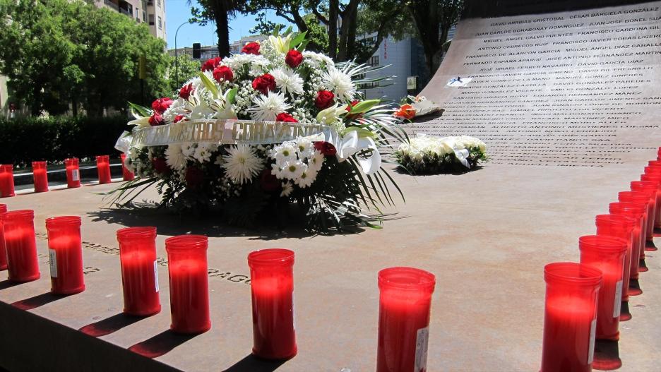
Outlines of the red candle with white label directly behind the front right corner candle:
{"label": "red candle with white label directly behind the front right corner candle", "polygon": [[580,263],[602,272],[597,300],[598,340],[619,340],[619,316],[624,278],[626,241],[614,236],[587,235],[578,238]]}

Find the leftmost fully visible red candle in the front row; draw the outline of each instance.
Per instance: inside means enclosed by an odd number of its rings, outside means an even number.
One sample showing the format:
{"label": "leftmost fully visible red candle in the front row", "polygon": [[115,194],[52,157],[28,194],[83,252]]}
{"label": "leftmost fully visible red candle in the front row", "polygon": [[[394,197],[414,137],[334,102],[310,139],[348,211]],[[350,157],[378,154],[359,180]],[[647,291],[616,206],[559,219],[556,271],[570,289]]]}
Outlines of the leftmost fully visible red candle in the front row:
{"label": "leftmost fully visible red candle in the front row", "polygon": [[40,277],[35,238],[35,212],[14,210],[0,214],[4,228],[9,280],[31,282]]}

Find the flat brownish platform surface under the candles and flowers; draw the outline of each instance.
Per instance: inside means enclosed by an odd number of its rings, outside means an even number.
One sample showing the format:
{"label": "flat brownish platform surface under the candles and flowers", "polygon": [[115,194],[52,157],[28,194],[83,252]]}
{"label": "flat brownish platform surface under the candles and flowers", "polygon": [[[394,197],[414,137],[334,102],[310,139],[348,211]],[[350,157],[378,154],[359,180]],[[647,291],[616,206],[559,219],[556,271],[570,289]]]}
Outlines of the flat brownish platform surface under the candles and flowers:
{"label": "flat brownish platform surface under the candles and flowers", "polygon": [[[102,209],[118,183],[1,199],[36,212],[42,279],[11,285],[0,272],[0,367],[9,371],[374,371],[376,273],[409,265],[436,274],[428,371],[537,371],[542,348],[543,267],[578,260],[578,236],[638,179],[641,151],[608,167],[486,165],[463,175],[394,174],[405,191],[398,219],[383,230],[307,236],[218,226],[155,212]],[[155,198],[155,191],[145,193]],[[83,217],[87,290],[49,295],[44,220]],[[176,234],[208,234],[213,328],[196,337],[168,332],[167,267],[159,266],[162,312],[121,316],[117,229],[155,225],[158,256]],[[661,240],[656,244],[661,246]],[[246,256],[261,248],[296,252],[299,354],[283,364],[251,358]],[[621,371],[657,371],[661,358],[661,260],[649,252],[633,319],[621,323]],[[105,334],[105,335],[103,335]],[[92,335],[97,335],[93,337]]]}

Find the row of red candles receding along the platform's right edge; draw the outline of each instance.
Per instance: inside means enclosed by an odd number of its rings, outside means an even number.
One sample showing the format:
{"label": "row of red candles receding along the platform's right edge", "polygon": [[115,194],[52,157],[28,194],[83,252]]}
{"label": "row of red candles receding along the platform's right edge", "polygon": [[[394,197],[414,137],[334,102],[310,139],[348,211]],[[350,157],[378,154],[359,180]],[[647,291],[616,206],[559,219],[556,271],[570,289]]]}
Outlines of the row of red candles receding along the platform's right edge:
{"label": "row of red candles receding along the platform's right edge", "polygon": [[597,215],[597,234],[578,239],[580,263],[544,267],[547,283],[541,372],[610,371],[619,356],[595,352],[619,342],[619,322],[631,319],[629,296],[642,294],[639,272],[647,271],[645,251],[656,251],[661,228],[661,148],[618,193],[609,214]]}

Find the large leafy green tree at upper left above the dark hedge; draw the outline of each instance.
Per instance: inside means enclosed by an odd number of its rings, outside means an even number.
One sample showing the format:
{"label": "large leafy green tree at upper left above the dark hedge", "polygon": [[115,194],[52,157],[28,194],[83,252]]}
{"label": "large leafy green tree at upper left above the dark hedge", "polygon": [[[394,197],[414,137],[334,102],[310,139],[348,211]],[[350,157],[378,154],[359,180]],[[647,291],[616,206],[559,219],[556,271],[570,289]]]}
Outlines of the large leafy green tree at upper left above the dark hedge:
{"label": "large leafy green tree at upper left above the dark hedge", "polygon": [[145,101],[169,92],[165,42],[131,17],[82,1],[0,0],[0,73],[32,113],[78,107],[99,115],[142,102],[138,59],[148,76]]}

